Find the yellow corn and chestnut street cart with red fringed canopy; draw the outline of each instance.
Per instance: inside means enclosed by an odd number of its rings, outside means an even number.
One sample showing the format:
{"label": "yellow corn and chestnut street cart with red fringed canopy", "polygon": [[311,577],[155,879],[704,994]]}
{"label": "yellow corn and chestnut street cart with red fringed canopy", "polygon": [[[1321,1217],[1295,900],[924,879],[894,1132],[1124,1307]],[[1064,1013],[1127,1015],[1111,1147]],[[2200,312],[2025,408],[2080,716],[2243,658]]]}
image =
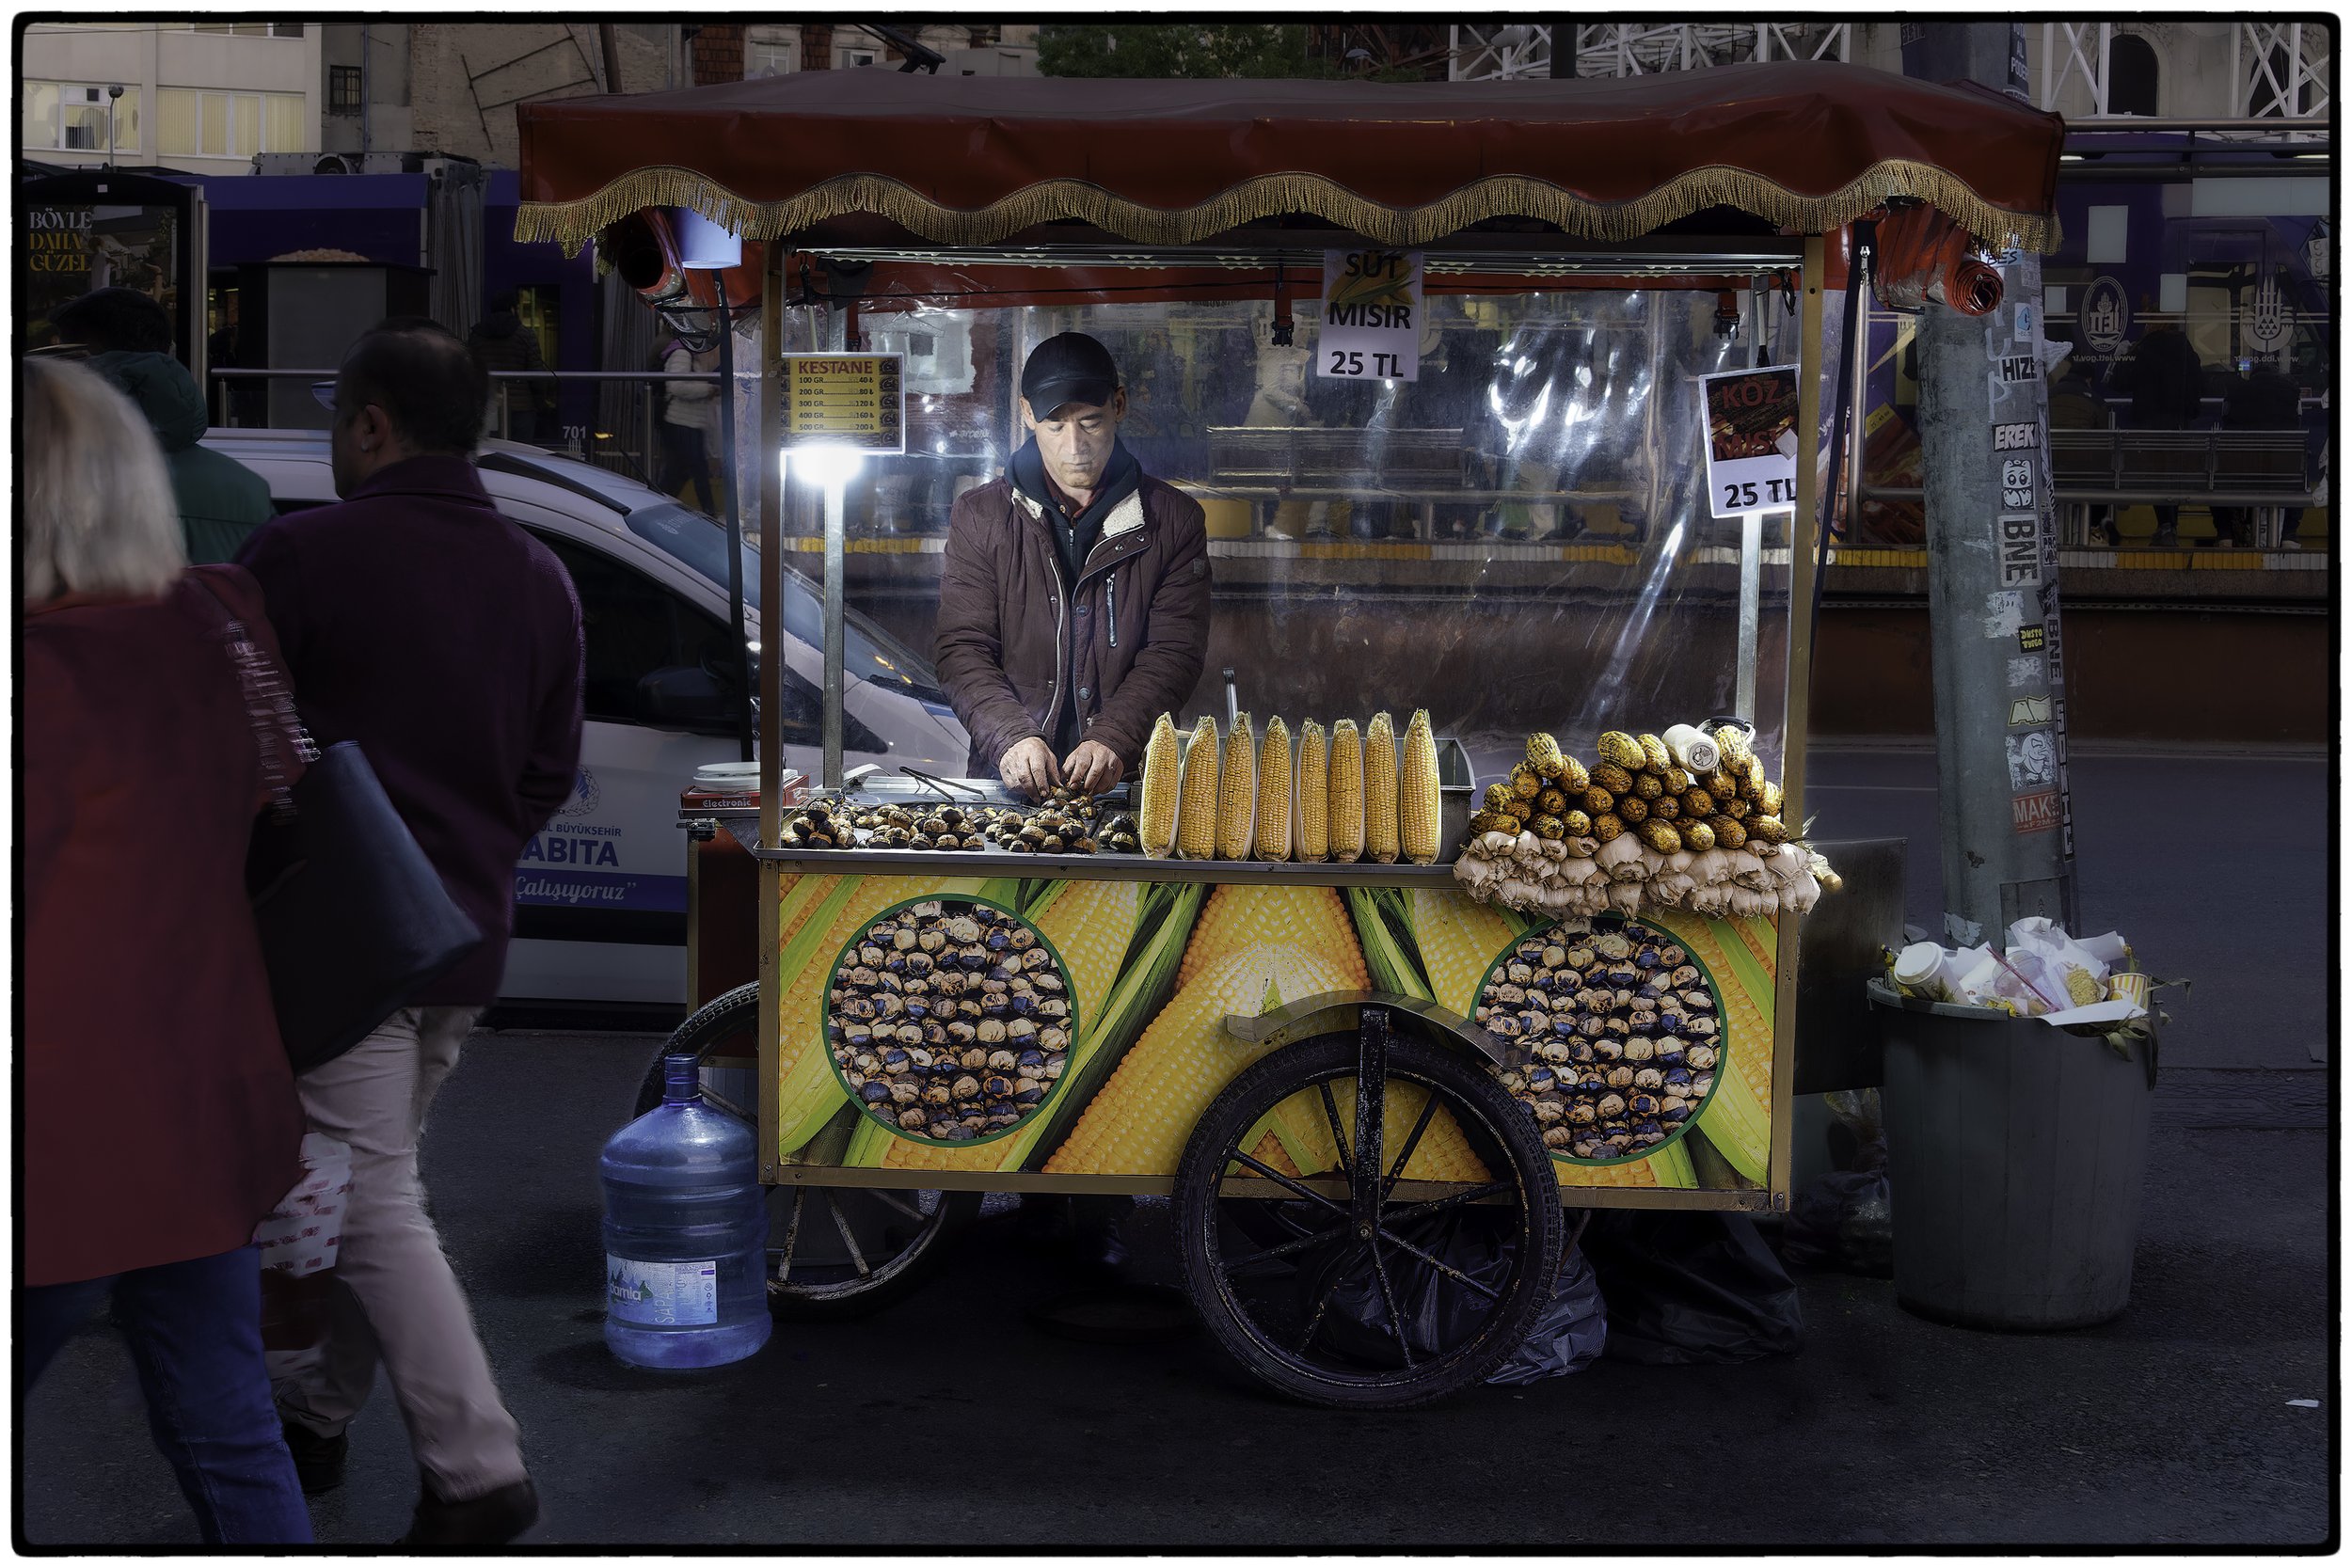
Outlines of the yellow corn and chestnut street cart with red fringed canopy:
{"label": "yellow corn and chestnut street cart with red fringed canopy", "polygon": [[[786,644],[804,557],[826,661],[760,668],[760,806],[689,811],[696,853],[757,863],[760,940],[755,983],[703,976],[680,1041],[757,1119],[779,1309],[887,1300],[978,1194],[1169,1194],[1192,1302],[1244,1366],[1399,1406],[1519,1342],[1564,1211],[1783,1208],[1792,889],[1835,886],[1802,853],[1825,463],[1792,454],[1828,435],[1844,226],[1924,205],[1955,244],[2044,249],[2056,155],[2056,118],[1999,94],[1802,63],[835,71],[524,106],[520,237],[576,249],[682,207],[764,247],[755,644]],[[1357,308],[1369,273],[1402,315]],[[1409,327],[1374,339],[1390,374],[1350,374],[1367,320]],[[936,562],[946,503],[1018,442],[1023,355],[1073,327],[1122,357],[1148,470],[1209,515],[1209,679],[1089,809],[844,780],[851,559]],[[833,418],[804,418],[809,357],[894,407],[804,444]],[[1755,367],[1788,367],[1797,404],[1762,442],[1700,397]],[[1778,440],[1785,489],[1733,475],[1719,517],[1710,440]],[[1329,738],[1265,745],[1275,715]],[[788,750],[814,811],[779,790]],[[1402,849],[1376,820],[1345,853],[1324,806],[1357,809],[1359,766]],[[1249,790],[1256,835],[1216,832]],[[1783,879],[1684,875],[1743,837],[1710,811],[1752,811],[1766,860],[1788,839]]]}

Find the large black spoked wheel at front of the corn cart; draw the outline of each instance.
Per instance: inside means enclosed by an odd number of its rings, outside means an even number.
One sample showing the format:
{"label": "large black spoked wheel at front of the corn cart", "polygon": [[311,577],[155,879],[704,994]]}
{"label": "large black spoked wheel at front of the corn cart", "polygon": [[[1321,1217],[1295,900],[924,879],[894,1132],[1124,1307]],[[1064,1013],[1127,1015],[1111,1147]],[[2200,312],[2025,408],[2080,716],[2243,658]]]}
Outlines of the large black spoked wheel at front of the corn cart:
{"label": "large black spoked wheel at front of the corn cart", "polygon": [[[1275,1389],[1357,1410],[1418,1406],[1482,1382],[1543,1312],[1564,1246],[1552,1161],[1526,1110],[1475,1063],[1416,1039],[1388,1041],[1385,1025],[1385,1013],[1367,1025],[1376,1044],[1324,1034],[1242,1072],[1192,1128],[1176,1171],[1185,1291],[1209,1331]],[[1331,1088],[1364,1077],[1428,1091],[1395,1152],[1378,1128],[1367,1147],[1364,1128],[1343,1126]],[[1327,1173],[1345,1180],[1343,1197],[1240,1147],[1301,1091],[1310,1105],[1322,1100],[1343,1152]],[[1390,1197],[1435,1107],[1454,1117],[1494,1180],[1428,1201]],[[1228,1194],[1228,1178],[1272,1180],[1296,1197]],[[1376,1197],[1357,1206],[1357,1192]],[[1439,1251],[1477,1262],[1463,1272]],[[1341,1291],[1355,1312],[1331,1309]]]}

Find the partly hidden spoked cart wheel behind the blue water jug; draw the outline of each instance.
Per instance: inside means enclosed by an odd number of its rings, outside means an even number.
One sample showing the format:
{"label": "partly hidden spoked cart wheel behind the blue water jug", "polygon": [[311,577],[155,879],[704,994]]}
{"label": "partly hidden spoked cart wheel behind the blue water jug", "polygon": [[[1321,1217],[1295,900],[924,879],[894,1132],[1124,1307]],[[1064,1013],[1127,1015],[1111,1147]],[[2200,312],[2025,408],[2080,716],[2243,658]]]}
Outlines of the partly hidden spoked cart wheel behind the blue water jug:
{"label": "partly hidden spoked cart wheel behind the blue water jug", "polygon": [[[687,1053],[703,1063],[703,1103],[757,1126],[757,985],[696,1009],[647,1067],[637,1114],[661,1105],[663,1058]],[[877,1312],[920,1286],[978,1211],[976,1192],[769,1187],[767,1309],[802,1321]]]}

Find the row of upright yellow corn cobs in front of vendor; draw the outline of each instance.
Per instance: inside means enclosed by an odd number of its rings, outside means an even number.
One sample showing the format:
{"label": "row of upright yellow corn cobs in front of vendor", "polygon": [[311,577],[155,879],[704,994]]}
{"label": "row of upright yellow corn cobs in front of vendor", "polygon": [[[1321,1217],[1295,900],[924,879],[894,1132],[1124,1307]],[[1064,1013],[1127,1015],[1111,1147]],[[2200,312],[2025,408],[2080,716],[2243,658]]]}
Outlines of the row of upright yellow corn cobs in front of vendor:
{"label": "row of upright yellow corn cobs in front of vendor", "polygon": [[1265,726],[1261,745],[1247,712],[1223,741],[1211,717],[1181,741],[1176,719],[1160,715],[1143,748],[1136,825],[1148,856],[1435,865],[1439,813],[1428,710],[1414,715],[1402,743],[1385,712],[1364,731],[1341,719],[1329,736],[1308,719],[1296,757],[1282,719]]}

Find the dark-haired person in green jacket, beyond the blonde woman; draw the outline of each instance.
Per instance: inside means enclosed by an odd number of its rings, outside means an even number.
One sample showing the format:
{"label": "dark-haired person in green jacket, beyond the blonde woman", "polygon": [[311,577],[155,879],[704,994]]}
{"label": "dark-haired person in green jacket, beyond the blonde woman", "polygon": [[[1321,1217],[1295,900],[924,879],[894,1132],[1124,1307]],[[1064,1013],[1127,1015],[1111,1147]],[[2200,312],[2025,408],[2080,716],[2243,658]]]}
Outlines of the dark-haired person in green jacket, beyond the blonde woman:
{"label": "dark-haired person in green jacket, beyond the blonde woman", "polygon": [[245,536],[275,517],[270,487],[245,463],[202,447],[212,418],[195,376],[172,357],[172,317],[139,289],[94,289],[52,317],[68,343],[89,350],[162,442],[188,564],[235,559]]}

